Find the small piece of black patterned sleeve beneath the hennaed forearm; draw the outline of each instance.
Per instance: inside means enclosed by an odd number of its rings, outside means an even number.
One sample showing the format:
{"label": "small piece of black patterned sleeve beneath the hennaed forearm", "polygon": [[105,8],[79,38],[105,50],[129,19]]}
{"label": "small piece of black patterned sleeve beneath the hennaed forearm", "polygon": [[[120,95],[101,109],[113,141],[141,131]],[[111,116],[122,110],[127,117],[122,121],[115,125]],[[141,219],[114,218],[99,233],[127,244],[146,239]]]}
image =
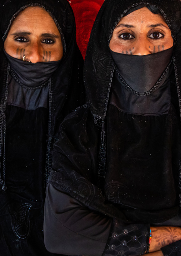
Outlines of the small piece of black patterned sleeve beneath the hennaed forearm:
{"label": "small piece of black patterned sleeve beneath the hennaed forearm", "polygon": [[161,248],[164,256],[180,256],[181,240]]}

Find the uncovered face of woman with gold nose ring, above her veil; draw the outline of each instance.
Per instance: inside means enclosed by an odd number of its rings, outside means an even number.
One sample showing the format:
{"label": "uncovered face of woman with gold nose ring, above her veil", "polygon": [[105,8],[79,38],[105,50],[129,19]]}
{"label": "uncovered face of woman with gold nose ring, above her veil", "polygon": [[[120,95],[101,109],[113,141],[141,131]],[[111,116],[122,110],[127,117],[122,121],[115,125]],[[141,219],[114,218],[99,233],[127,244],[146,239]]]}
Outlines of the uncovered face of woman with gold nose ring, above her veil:
{"label": "uncovered face of woman with gold nose ring, above her veil", "polygon": [[58,61],[63,56],[60,32],[50,14],[41,7],[27,7],[12,22],[4,42],[12,57],[31,61]]}

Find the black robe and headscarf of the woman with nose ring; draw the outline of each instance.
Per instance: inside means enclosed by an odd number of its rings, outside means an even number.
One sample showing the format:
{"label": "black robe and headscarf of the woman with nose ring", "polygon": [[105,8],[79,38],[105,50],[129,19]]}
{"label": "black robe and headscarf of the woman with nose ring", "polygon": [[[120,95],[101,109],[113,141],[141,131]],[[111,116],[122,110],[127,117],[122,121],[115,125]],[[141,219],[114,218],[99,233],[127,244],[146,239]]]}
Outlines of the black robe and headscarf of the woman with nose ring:
{"label": "black robe and headscarf of the woman with nose ring", "polygon": [[[45,8],[55,21],[63,43],[63,57],[58,66],[56,63],[56,70],[45,74],[46,81],[51,76],[48,82],[41,87],[40,77],[33,77],[41,88],[33,87],[33,83],[22,87],[19,81],[22,77],[16,80],[9,72],[9,61],[3,51],[3,40],[12,21],[26,6]],[[6,188],[5,191],[2,185],[0,188],[0,254],[54,255],[46,250],[43,239],[45,176],[51,168],[49,152],[66,114],[84,103],[83,58],[76,43],[74,16],[67,0],[4,0],[0,12],[0,115],[6,118],[3,126],[6,129],[0,127],[6,156],[5,160],[4,154],[1,155],[0,170]],[[17,60],[19,74],[25,71],[22,65],[31,66],[27,63]]]}

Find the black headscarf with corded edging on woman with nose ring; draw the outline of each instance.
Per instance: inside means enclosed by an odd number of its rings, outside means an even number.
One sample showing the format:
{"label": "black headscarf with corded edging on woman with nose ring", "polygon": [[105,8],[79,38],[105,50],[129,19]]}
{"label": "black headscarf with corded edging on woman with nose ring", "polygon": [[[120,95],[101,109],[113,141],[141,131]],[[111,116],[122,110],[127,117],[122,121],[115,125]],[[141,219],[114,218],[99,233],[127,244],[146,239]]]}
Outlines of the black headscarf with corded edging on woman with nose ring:
{"label": "black headscarf with corded edging on woman with nose ring", "polygon": [[[63,118],[84,103],[84,87],[82,81],[83,58],[76,43],[75,19],[71,6],[67,0],[4,0],[0,4],[0,116],[5,123],[6,100],[7,100],[7,76],[9,73],[8,60],[3,51],[3,43],[6,39],[12,21],[20,11],[29,6],[43,7],[53,18],[60,31],[63,44],[63,57],[60,65],[53,73],[49,85],[49,120],[48,120],[48,146],[46,159],[46,179],[51,169],[51,148],[58,139],[59,126]],[[5,144],[5,126],[1,134],[1,156],[4,154],[3,144]],[[3,142],[4,141],[4,142]],[[8,143],[8,141],[6,141]],[[5,165],[3,167],[5,190]],[[2,175],[2,170],[1,170]]]}

